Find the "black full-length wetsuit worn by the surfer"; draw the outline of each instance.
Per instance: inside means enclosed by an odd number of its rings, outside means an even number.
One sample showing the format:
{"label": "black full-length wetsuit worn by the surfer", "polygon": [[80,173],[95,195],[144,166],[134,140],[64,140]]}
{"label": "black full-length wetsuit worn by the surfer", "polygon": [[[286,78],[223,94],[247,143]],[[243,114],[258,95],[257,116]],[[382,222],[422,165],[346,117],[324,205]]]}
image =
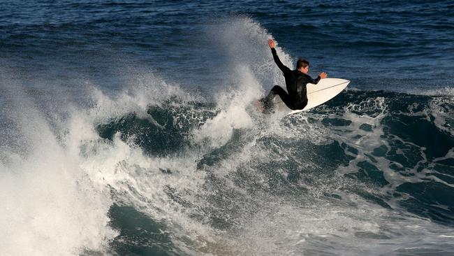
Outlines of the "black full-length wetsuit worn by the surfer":
{"label": "black full-length wetsuit worn by the surfer", "polygon": [[321,79],[320,76],[316,79],[312,79],[305,73],[302,73],[298,70],[290,70],[287,66],[282,64],[281,60],[277,56],[276,49],[271,48],[272,57],[274,62],[276,62],[279,69],[284,73],[284,78],[286,81],[287,92],[282,89],[279,85],[274,85],[270,93],[265,99],[262,99],[263,106],[265,111],[270,111],[272,109],[272,99],[277,94],[281,97],[284,104],[288,106],[291,110],[303,109],[307,105],[307,90],[306,85],[308,83],[317,84]]}

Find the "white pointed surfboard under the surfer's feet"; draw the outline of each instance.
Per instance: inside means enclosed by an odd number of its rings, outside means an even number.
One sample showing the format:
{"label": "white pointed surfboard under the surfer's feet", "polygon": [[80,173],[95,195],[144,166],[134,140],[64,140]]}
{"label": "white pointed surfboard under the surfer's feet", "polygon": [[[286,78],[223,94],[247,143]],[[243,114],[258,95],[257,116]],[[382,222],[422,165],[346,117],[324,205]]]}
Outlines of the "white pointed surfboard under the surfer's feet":
{"label": "white pointed surfboard under the surfer's feet", "polygon": [[308,83],[307,106],[305,106],[305,108],[298,111],[292,111],[286,106],[286,104],[284,104],[284,102],[281,100],[281,97],[276,96],[273,99],[274,109],[281,112],[288,112],[287,115],[300,113],[301,111],[307,111],[334,98],[337,94],[342,92],[347,87],[347,85],[349,85],[349,83],[349,80],[340,78],[321,79],[320,82],[318,82],[318,84],[316,85]]}

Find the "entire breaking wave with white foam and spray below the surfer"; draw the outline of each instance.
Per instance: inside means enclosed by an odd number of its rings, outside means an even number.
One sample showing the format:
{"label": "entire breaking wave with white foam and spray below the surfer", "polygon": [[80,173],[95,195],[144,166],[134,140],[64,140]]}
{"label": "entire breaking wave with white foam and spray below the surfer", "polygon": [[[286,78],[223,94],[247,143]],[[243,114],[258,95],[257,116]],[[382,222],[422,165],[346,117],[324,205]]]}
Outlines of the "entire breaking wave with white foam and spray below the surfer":
{"label": "entire breaking wave with white foam and spray below the surfer", "polygon": [[210,24],[228,75],[209,89],[136,65],[112,64],[114,90],[3,66],[0,255],[454,254],[453,88],[352,80],[262,115],[252,102],[284,85],[273,36]]}

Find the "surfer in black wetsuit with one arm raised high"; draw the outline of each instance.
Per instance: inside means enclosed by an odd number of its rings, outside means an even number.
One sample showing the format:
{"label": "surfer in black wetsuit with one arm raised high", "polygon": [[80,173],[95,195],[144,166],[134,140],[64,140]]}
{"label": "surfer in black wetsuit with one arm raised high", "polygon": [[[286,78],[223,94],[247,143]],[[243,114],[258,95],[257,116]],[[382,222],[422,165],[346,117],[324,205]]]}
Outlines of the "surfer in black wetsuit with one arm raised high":
{"label": "surfer in black wetsuit with one arm raised high", "polygon": [[274,62],[276,62],[279,69],[284,73],[287,92],[279,85],[274,85],[268,96],[257,102],[259,110],[265,113],[272,111],[272,100],[276,95],[279,95],[284,104],[293,111],[305,108],[307,105],[306,85],[308,83],[316,85],[320,79],[326,78],[328,75],[325,72],[321,72],[317,78],[312,79],[307,74],[309,72],[309,62],[305,59],[298,59],[295,70],[288,69],[277,56],[276,49],[274,49],[276,43],[272,39],[268,39],[268,45],[270,45]]}

